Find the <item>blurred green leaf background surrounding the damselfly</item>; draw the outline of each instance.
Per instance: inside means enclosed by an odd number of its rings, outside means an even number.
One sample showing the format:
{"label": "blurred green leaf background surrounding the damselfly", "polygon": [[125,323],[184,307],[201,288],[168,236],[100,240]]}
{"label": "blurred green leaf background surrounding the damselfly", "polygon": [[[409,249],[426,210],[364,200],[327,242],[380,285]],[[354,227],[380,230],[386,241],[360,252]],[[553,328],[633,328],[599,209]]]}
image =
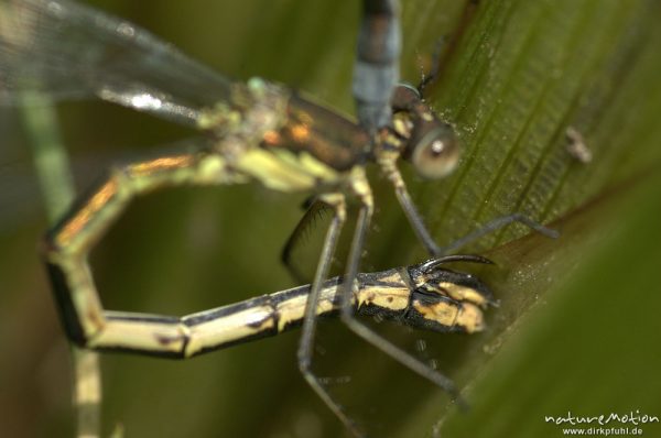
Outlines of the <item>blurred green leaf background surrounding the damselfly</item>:
{"label": "blurred green leaf background surrounding the damselfly", "polygon": [[[262,76],[353,111],[357,2],[90,3],[224,75]],[[527,230],[510,227],[468,249],[497,262],[478,272],[501,299],[485,333],[389,332],[467,387],[468,413],[328,324],[318,366],[349,377],[334,393],[370,436],[386,437],[556,437],[545,415],[661,416],[661,4],[402,3],[402,77],[419,83],[444,42],[426,92],[464,145],[445,180],[404,168],[434,236],[451,242],[512,211],[563,234],[521,239]],[[46,219],[29,133],[18,113],[0,114],[0,435],[72,436],[69,350],[36,256]],[[192,134],[102,102],[63,103],[58,119],[79,188],[111,157]],[[567,127],[583,133],[592,163],[566,152]],[[387,182],[372,180],[362,271],[424,259]],[[141,199],[94,253],[104,304],[183,315],[292,286],[278,258],[303,199],[257,186]],[[296,342],[292,332],[183,362],[105,354],[104,434],[121,424],[129,437],[345,436],[297,373]],[[658,424],[641,427],[661,436]]]}

